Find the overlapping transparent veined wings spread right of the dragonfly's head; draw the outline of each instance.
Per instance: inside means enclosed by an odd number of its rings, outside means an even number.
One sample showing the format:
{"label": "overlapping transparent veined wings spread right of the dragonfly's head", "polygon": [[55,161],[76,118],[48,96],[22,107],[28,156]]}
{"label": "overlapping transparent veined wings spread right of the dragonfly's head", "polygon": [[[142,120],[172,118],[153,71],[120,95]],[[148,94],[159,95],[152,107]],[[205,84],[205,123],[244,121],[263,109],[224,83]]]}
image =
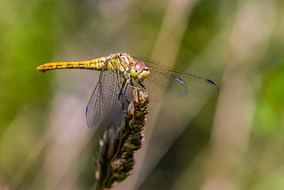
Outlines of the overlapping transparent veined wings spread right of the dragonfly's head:
{"label": "overlapping transparent veined wings spread right of the dragonfly's head", "polygon": [[143,85],[153,101],[180,97],[210,98],[218,94],[217,85],[209,79],[174,70],[155,60],[139,56],[132,57],[148,65],[150,75],[143,81]]}

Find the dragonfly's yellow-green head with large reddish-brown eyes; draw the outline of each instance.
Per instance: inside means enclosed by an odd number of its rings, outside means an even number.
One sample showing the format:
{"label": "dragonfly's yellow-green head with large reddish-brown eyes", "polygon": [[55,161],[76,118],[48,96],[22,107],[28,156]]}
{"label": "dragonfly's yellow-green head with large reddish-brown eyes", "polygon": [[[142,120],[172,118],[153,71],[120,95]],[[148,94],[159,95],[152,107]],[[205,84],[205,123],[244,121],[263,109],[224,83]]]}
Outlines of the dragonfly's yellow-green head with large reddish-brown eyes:
{"label": "dragonfly's yellow-green head with large reddish-brown eyes", "polygon": [[148,65],[143,62],[134,63],[133,67],[130,70],[130,76],[134,80],[137,80],[139,83],[142,83],[148,75],[150,75],[150,71],[148,70]]}

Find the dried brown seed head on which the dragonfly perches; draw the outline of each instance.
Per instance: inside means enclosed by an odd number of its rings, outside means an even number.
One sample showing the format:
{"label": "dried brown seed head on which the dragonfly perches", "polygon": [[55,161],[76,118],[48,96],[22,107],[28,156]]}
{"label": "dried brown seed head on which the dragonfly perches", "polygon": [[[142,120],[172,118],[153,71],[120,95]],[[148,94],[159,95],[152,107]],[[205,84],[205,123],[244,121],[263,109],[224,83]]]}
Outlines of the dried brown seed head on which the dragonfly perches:
{"label": "dried brown seed head on which the dragonfly perches", "polygon": [[133,90],[134,102],[129,105],[128,115],[119,127],[104,132],[99,142],[100,154],[94,159],[97,189],[109,189],[115,182],[124,181],[134,166],[134,151],[144,141],[143,127],[146,124],[149,98],[146,90]]}

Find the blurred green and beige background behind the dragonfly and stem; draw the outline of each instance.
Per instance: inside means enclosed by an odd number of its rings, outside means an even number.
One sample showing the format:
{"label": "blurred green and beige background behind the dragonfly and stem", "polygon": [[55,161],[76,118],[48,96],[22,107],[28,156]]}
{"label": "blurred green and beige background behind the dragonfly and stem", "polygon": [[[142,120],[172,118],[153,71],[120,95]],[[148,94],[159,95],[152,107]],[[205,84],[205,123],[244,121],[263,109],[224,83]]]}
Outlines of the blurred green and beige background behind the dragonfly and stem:
{"label": "blurred green and beige background behind the dragonfly and stem", "polygon": [[284,1],[0,0],[0,189],[93,189],[107,118],[98,72],[35,68],[131,53],[213,80],[212,100],[152,102],[114,189],[284,189]]}

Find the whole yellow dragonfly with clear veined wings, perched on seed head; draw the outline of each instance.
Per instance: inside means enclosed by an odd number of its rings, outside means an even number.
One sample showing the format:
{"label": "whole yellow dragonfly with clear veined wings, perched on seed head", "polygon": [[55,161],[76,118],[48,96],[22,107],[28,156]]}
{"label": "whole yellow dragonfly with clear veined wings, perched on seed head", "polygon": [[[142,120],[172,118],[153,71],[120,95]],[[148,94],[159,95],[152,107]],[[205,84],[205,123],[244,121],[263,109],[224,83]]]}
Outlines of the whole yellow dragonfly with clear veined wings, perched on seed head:
{"label": "whole yellow dragonfly with clear veined wings, perched on seed head", "polygon": [[86,108],[87,125],[90,129],[99,124],[105,111],[112,122],[119,124],[126,114],[125,107],[133,101],[133,88],[146,90],[151,101],[180,97],[211,98],[217,96],[219,91],[212,80],[128,53],[78,62],[44,63],[36,70],[45,72],[62,68],[100,71],[99,81]]}

